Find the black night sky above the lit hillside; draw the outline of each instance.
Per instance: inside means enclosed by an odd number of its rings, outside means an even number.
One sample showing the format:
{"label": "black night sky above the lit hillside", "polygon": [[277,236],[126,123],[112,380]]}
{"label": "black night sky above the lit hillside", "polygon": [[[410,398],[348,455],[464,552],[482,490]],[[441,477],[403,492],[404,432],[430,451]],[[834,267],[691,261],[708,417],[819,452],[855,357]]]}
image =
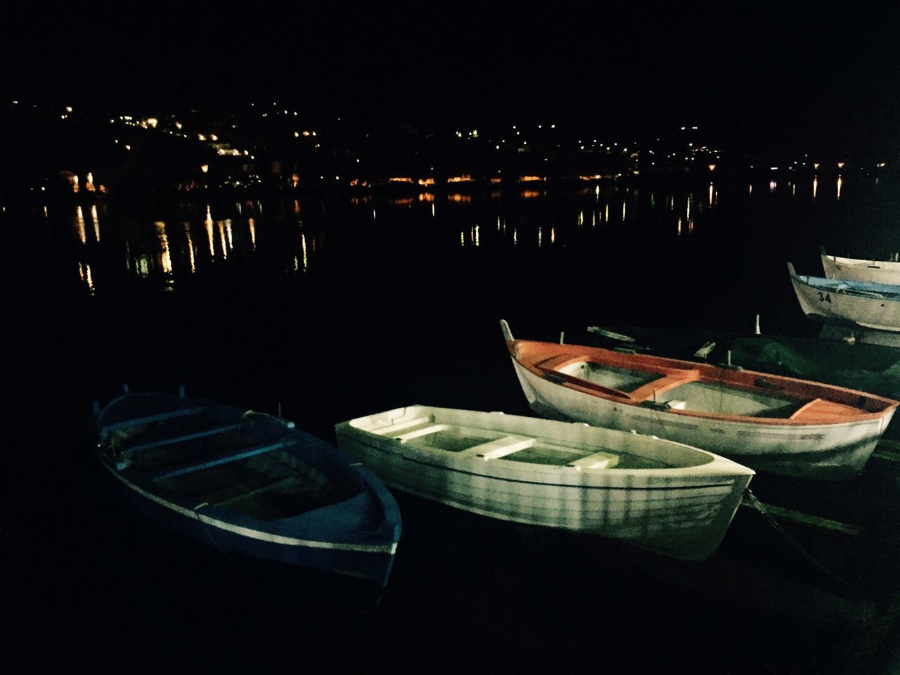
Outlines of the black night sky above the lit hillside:
{"label": "black night sky above the lit hillside", "polygon": [[725,141],[897,148],[900,4],[672,5],[16,8],[3,88],[157,114],[272,99],[424,125],[699,124]]}

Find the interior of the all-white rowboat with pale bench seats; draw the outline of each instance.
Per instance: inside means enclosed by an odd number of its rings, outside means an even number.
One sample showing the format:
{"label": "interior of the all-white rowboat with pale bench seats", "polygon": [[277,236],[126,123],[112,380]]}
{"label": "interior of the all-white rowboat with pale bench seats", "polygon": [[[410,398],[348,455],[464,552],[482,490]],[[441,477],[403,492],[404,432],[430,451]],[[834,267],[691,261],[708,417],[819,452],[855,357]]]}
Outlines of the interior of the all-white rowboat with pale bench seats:
{"label": "interior of the all-white rowboat with pale bench seats", "polygon": [[[477,457],[485,461],[572,466],[579,469],[660,469],[674,466],[662,461],[662,455],[650,457],[626,452],[621,448],[585,446],[583,443],[533,436],[519,431],[508,433],[498,429],[469,427],[444,421],[436,414],[391,420],[374,426],[365,423],[356,423],[354,426],[377,436],[393,438],[405,446],[442,451],[461,458]],[[695,464],[705,464],[707,461],[707,455],[699,453],[694,458]]]}

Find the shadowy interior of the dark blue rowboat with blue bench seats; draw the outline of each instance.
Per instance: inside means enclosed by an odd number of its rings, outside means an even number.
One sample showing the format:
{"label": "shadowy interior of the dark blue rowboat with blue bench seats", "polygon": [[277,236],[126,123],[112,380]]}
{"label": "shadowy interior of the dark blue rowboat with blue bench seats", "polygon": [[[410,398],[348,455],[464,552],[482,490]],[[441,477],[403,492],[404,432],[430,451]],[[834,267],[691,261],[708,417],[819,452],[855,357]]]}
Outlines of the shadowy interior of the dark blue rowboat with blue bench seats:
{"label": "shadowy interior of the dark blue rowboat with blue bench seats", "polygon": [[260,433],[252,418],[184,410],[116,422],[107,451],[132,477],[171,497],[260,520],[298,516],[360,491],[361,485],[339,484],[291,454],[299,441],[290,434]]}

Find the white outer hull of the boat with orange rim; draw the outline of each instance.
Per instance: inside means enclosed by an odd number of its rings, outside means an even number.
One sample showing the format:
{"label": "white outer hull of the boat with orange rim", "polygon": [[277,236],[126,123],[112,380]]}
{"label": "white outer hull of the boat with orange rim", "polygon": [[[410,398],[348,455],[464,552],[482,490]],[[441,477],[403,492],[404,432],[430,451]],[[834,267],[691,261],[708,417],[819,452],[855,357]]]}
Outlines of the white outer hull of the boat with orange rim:
{"label": "white outer hull of the boat with orange rim", "polygon": [[758,471],[824,480],[862,471],[893,410],[878,419],[831,425],[770,425],[679,415],[577,392],[512,359],[529,406],[539,415],[631,430],[696,446]]}

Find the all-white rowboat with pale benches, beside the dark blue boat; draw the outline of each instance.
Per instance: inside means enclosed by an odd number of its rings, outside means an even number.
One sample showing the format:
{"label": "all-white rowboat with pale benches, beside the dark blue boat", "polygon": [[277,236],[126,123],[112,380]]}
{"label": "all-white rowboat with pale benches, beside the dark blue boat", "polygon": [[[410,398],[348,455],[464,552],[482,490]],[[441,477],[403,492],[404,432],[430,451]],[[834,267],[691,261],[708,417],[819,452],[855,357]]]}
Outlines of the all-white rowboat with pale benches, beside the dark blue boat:
{"label": "all-white rowboat with pale benches, beside the dark blue boat", "polygon": [[753,475],[657,437],[501,412],[410,406],[335,433],[398,490],[688,560],[716,551]]}

